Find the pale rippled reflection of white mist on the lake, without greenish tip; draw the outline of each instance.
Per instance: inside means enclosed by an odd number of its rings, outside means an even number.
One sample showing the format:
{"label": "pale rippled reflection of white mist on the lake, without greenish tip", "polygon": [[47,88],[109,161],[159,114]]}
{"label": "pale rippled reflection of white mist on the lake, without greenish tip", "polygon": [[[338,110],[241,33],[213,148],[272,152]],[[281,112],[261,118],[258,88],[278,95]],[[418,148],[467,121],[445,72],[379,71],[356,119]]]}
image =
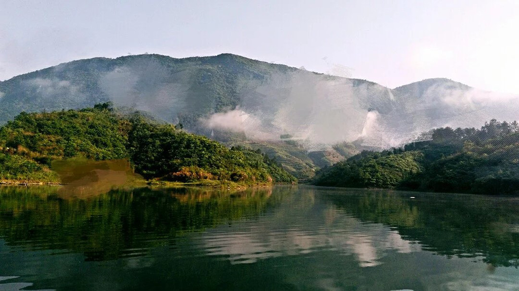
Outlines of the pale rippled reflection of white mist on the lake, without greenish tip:
{"label": "pale rippled reflection of white mist on the lake, without greenish tip", "polygon": [[[331,214],[333,213],[333,214]],[[354,256],[360,267],[381,264],[388,251],[411,253],[420,251],[418,243],[402,239],[400,234],[381,224],[366,224],[354,217],[330,209],[324,210],[313,224],[302,226],[282,222],[268,225],[270,219],[243,226],[247,231],[209,231],[200,237],[200,244],[209,255],[223,256],[233,264],[255,263],[258,259],[335,251]],[[330,216],[334,216],[331,222]],[[324,221],[322,218],[324,217]],[[301,219],[305,219],[301,217]],[[306,218],[309,220],[309,218]],[[308,229],[311,228],[311,229]]]}

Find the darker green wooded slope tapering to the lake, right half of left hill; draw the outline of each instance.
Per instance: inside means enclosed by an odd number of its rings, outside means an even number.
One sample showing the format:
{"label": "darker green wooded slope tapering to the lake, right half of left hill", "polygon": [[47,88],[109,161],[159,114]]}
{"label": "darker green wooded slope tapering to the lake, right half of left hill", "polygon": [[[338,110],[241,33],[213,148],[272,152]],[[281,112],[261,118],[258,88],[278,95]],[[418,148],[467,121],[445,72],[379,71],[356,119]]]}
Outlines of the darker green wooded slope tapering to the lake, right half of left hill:
{"label": "darker green wooded slope tapering to the lake, right half of left hill", "polygon": [[147,178],[199,167],[218,180],[295,182],[261,152],[228,149],[206,137],[175,131],[171,125],[132,120],[129,143],[135,170]]}

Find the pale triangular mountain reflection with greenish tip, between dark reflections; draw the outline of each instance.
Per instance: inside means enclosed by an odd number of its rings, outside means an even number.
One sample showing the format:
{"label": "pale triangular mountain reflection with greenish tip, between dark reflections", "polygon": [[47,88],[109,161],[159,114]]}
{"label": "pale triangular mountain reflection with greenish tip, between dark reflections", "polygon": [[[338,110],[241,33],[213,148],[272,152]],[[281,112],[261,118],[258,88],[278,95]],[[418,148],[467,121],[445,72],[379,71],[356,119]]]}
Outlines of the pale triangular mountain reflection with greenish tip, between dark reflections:
{"label": "pale triangular mountain reflection with greenish tip, between dark reflections", "polygon": [[[288,256],[321,257],[332,252],[337,261],[354,261],[360,267],[379,266],[392,252],[421,250],[419,244],[402,239],[397,231],[385,225],[364,223],[331,203],[323,203],[321,193],[315,188],[298,187],[292,193],[283,197],[271,216],[225,231],[220,227],[204,232],[199,237],[201,249],[231,264]],[[337,261],[332,259],[326,264],[333,266]],[[314,273],[312,268],[319,267],[306,268]]]}

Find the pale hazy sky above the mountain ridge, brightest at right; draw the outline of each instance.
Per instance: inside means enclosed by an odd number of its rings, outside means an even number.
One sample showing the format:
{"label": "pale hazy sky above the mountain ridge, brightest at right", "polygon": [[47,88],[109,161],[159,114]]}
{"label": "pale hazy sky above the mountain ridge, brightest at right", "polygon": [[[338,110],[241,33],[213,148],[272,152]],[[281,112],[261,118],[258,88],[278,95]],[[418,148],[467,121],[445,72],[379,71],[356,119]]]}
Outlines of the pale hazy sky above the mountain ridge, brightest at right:
{"label": "pale hazy sky above the mountain ridge, brightest at right", "polygon": [[390,88],[519,94],[519,1],[0,0],[0,80],[95,56],[230,52]]}

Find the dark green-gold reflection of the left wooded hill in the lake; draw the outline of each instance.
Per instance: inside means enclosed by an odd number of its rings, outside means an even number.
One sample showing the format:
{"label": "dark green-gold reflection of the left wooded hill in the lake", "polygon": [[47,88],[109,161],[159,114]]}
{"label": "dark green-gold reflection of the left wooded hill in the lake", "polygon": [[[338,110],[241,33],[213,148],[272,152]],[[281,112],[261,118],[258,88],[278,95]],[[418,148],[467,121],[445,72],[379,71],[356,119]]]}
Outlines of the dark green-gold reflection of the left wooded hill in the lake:
{"label": "dark green-gold reflection of the left wooded hill in the lake", "polygon": [[63,199],[57,187],[0,187],[0,237],[15,247],[70,249],[87,260],[142,255],[177,236],[266,210],[270,189],[114,190]]}

